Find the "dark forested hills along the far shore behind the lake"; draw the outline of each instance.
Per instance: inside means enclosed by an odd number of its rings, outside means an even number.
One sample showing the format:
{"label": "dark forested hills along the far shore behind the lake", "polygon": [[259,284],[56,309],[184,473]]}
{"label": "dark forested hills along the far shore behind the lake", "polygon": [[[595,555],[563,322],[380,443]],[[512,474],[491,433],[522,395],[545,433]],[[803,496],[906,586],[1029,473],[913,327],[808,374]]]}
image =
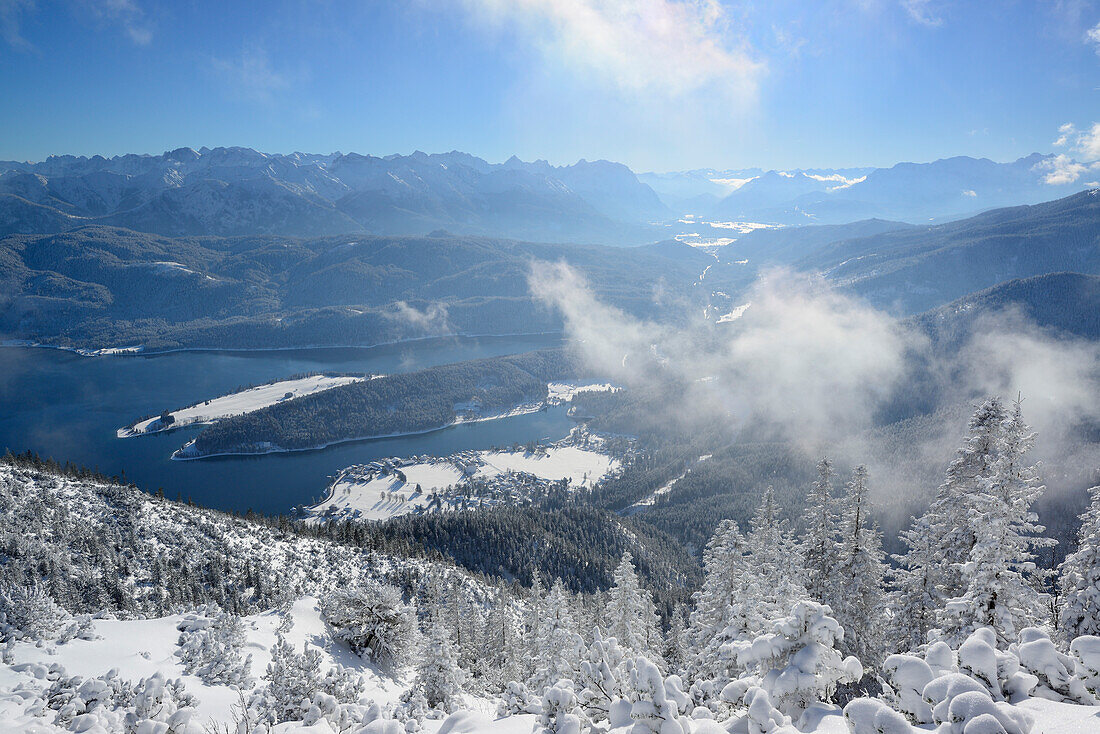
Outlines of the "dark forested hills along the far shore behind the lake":
{"label": "dark forested hills along the far shore behind the lake", "polygon": [[535,262],[566,262],[620,308],[663,313],[713,261],[664,251],[453,237],[168,239],[107,227],[0,238],[0,336],[67,347],[374,344],[556,331]]}

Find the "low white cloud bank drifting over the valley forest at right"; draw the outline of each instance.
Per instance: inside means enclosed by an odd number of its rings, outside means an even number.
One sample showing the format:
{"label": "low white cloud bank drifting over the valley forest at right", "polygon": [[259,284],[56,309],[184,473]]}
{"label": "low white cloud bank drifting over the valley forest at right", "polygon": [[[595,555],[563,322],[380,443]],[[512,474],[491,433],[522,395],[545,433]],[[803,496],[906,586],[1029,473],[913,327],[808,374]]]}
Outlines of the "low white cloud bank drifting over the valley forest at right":
{"label": "low white cloud bank drifting over the valley forest at right", "polygon": [[[910,512],[943,479],[972,406],[989,395],[1024,398],[1038,434],[1035,457],[1055,490],[1079,489],[1100,465],[1100,346],[1058,338],[1016,313],[987,315],[959,349],[815,276],[766,273],[732,324],[674,325],[601,303],[568,265],[537,263],[529,285],[558,309],[571,343],[601,376],[659,396],[659,420],[679,429],[728,426],[737,440],[781,440],[807,458],[866,463],[880,504]],[[877,418],[912,413],[883,430]],[[894,418],[891,417],[891,420]]]}

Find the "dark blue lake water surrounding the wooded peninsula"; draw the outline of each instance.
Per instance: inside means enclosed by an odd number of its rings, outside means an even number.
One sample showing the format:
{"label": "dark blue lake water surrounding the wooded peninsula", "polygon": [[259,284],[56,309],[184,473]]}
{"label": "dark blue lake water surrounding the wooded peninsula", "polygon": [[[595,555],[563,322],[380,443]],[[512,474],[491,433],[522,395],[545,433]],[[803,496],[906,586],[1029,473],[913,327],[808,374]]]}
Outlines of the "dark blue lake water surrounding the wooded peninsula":
{"label": "dark blue lake water surrounding the wooded peninsula", "polygon": [[201,427],[119,439],[114,431],[153,415],[301,372],[394,373],[556,346],[553,337],[498,337],[409,342],[370,349],[278,352],[176,352],[79,357],[53,349],[0,348],[0,452],[26,449],[59,461],[122,474],[143,490],[208,507],[290,512],[324,494],[340,469],[388,456],[447,454],[466,449],[561,438],[572,421],[563,407],[455,426],[405,438],[356,441],[320,451],[172,461]]}

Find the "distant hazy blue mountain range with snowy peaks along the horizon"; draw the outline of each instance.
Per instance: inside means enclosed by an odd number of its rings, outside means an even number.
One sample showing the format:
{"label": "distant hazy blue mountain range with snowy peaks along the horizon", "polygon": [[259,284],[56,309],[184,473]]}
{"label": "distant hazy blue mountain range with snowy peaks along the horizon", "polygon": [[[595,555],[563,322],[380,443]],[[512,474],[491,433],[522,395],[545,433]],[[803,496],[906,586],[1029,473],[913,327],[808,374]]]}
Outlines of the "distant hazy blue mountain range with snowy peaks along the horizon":
{"label": "distant hazy blue mountain range with snowy peaks along the horizon", "polygon": [[1082,188],[1048,180],[1053,156],[953,157],[890,168],[702,169],[636,175],[608,161],[552,166],[460,153],[272,154],[180,147],[161,155],[0,162],[0,234],[89,223],[166,235],[349,232],[638,244],[676,219],[784,224],[926,222],[1045,201]]}

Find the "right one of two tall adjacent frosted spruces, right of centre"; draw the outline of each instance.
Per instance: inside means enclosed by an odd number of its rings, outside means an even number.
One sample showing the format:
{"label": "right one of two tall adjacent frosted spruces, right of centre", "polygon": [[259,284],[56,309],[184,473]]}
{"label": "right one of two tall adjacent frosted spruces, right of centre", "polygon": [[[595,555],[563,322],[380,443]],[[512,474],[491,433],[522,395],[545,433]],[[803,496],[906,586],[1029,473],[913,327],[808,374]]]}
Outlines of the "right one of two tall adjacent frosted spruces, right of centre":
{"label": "right one of two tall adjacent frosted spruces, right of centre", "polygon": [[877,667],[886,650],[884,556],[882,537],[871,522],[867,468],[856,467],[844,500],[833,610],[844,627],[840,649],[865,666]]}

